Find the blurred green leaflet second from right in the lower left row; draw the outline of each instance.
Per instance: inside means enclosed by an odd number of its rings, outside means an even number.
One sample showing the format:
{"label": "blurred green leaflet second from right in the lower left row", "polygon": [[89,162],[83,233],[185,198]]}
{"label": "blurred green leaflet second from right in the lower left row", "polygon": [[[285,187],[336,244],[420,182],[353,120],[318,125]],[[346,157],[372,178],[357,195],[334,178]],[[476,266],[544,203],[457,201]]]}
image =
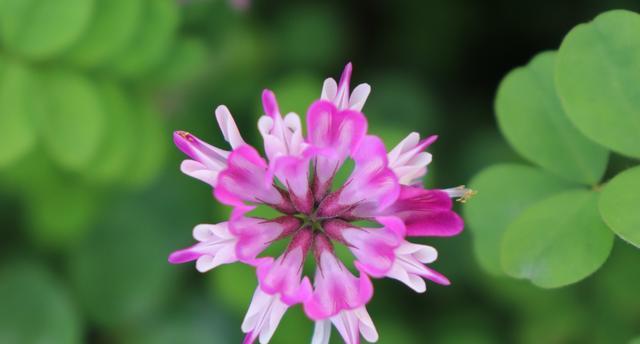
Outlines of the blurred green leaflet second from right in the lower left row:
{"label": "blurred green leaflet second from right in the lower left row", "polygon": [[[87,167],[86,177],[91,181],[108,183],[128,177],[134,159],[132,147],[136,145],[135,123],[137,109],[125,90],[110,81],[98,85],[105,109],[105,138]],[[152,154],[152,152],[146,152]]]}

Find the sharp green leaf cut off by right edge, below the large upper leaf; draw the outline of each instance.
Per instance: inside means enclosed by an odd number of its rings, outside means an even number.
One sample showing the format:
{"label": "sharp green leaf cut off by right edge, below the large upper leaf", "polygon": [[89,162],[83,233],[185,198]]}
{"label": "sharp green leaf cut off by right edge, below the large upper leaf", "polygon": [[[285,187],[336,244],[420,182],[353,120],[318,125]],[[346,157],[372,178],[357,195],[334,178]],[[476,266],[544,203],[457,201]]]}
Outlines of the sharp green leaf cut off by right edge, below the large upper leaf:
{"label": "sharp green leaf cut off by right edge, below the large upper leaf", "polygon": [[600,214],[619,237],[640,248],[640,166],[611,179],[600,195]]}

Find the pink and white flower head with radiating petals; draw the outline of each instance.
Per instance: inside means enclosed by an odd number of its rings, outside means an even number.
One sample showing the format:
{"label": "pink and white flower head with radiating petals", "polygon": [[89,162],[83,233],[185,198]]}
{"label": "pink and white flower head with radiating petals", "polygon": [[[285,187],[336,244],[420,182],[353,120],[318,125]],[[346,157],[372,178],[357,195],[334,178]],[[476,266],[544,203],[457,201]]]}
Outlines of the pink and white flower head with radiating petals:
{"label": "pink and white flower head with radiating petals", "polygon": [[[266,159],[245,143],[224,106],[216,118],[231,151],[186,132],[174,134],[190,157],[181,170],[213,187],[215,198],[233,211],[227,222],[196,226],[198,243],[172,253],[169,261],[195,260],[201,272],[232,262],[256,268],[258,286],[242,323],[245,343],[267,343],[287,309],[297,305],[315,322],[312,343],[328,343],[332,325],[345,343],[359,343],[360,336],[375,342],[378,333],[366,310],[371,278],[393,278],[417,292],[426,290],[425,280],[449,284],[426,265],[437,251],[407,239],[460,233],[463,222],[451,198],[466,201],[473,192],[421,186],[431,162],[424,150],[436,136],[420,140],[411,133],[387,152],[380,138],[367,133],[361,111],[371,88],[361,84],[351,92],[351,69],[347,64],[338,83],[324,82],[307,111],[306,136],[300,117],[283,116],[273,92],[263,92],[258,129]],[[351,175],[334,185],[347,160],[354,162]],[[251,216],[258,205],[282,215]],[[362,221],[371,225],[356,224]],[[262,254],[279,240],[288,241],[284,252]],[[353,267],[335,255],[335,245],[349,248]],[[315,262],[313,276],[304,273],[307,259]]]}

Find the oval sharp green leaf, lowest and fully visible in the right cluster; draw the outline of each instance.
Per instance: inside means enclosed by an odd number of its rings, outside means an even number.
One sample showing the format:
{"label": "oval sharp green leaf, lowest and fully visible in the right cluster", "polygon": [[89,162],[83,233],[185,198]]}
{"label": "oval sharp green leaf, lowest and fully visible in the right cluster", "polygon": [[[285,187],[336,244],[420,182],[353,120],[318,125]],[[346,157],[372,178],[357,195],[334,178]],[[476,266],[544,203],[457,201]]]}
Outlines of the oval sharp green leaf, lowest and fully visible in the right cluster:
{"label": "oval sharp green leaf, lowest and fully visible in the right cluster", "polygon": [[505,272],[555,288],[598,270],[609,256],[613,233],[600,219],[597,202],[595,192],[573,190],[527,208],[504,233]]}

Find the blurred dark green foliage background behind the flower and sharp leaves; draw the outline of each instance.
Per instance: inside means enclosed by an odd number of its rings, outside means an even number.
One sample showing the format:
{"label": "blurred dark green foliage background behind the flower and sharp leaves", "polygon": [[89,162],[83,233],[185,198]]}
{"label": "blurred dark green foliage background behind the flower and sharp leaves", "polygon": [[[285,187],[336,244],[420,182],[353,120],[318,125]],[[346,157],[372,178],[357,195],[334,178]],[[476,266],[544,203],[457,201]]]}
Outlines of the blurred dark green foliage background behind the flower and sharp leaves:
{"label": "blurred dark green foliage background behind the flower and sharp leaves", "polygon": [[[228,210],[179,172],[171,133],[223,145],[226,104],[257,144],[263,88],[306,112],[354,63],[370,131],[439,134],[428,186],[521,161],[496,129],[500,79],[578,23],[637,1],[0,0],[0,343],[238,343],[255,288],[167,255]],[[468,232],[436,246],[452,286],[375,281],[380,343],[627,343],[640,255],[616,243],[577,285],[542,290],[478,267]],[[310,340],[299,307],[272,343]],[[332,342],[338,343],[334,332]]]}

